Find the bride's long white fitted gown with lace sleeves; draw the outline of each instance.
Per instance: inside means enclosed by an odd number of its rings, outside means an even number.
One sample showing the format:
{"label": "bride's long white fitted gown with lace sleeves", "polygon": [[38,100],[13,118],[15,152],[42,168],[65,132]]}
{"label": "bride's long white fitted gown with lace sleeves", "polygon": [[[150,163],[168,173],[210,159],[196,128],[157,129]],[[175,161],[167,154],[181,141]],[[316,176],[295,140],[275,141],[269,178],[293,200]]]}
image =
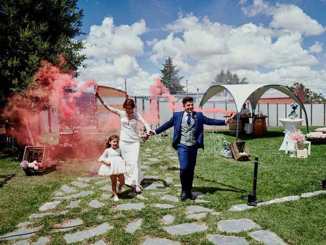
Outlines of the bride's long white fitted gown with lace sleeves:
{"label": "bride's long white fitted gown with lace sleeves", "polygon": [[127,115],[125,111],[115,109],[107,105],[106,102],[103,105],[107,110],[120,116],[121,132],[119,148],[121,149],[122,157],[127,163],[127,172],[124,175],[125,183],[130,186],[140,184],[144,179],[144,174],[141,169],[139,156],[140,140],[136,126],[138,121],[141,121],[145,125],[147,132],[151,130],[150,126],[138,112]]}

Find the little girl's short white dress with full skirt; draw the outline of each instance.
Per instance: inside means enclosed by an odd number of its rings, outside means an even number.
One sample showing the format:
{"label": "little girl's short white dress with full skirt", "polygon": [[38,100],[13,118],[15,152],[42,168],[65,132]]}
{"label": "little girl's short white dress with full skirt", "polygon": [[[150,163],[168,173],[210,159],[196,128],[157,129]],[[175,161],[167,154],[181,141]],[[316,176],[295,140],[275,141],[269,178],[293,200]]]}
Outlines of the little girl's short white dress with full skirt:
{"label": "little girl's short white dress with full skirt", "polygon": [[121,157],[120,149],[107,148],[103,155],[99,157],[98,161],[103,160],[111,162],[111,165],[108,166],[105,163],[102,163],[100,169],[98,170],[98,175],[120,175],[126,173],[125,163]]}

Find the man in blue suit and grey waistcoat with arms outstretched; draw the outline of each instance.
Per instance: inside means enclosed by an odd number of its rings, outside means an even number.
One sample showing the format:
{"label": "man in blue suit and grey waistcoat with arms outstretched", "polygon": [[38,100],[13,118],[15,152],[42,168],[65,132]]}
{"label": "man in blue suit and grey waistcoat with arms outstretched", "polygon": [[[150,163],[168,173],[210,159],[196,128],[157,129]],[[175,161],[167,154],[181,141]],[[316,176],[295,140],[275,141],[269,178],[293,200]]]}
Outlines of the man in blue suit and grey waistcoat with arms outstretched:
{"label": "man in blue suit and grey waistcoat with arms outstretched", "polygon": [[159,134],[174,127],[172,146],[178,152],[180,163],[180,181],[182,201],[187,198],[195,200],[191,190],[193,187],[194,170],[196,165],[197,150],[204,150],[204,124],[227,125],[232,119],[219,120],[208,118],[202,112],[194,111],[194,99],[186,96],[182,100],[184,111],[175,112],[171,119],[150,135]]}

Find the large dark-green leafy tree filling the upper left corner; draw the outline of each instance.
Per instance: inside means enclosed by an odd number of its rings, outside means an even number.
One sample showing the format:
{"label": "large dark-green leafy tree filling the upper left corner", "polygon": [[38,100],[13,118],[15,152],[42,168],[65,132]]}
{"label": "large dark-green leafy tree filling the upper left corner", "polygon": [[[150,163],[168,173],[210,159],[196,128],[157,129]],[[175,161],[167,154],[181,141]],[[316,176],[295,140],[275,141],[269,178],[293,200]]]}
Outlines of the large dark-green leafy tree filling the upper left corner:
{"label": "large dark-green leafy tree filling the upper left corner", "polygon": [[41,60],[63,71],[83,65],[84,44],[73,39],[83,34],[83,16],[77,0],[0,0],[0,108],[33,85]]}

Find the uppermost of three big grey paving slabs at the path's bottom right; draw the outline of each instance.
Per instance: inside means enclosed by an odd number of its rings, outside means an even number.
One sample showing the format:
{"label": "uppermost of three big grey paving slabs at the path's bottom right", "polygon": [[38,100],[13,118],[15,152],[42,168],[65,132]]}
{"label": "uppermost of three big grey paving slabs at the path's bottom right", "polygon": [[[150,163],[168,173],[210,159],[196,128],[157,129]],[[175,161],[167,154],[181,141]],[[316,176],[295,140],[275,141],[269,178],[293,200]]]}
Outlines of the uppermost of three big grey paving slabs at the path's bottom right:
{"label": "uppermost of three big grey paving slabs at the path's bottom right", "polygon": [[218,229],[226,232],[241,232],[254,228],[260,229],[260,226],[248,218],[222,220],[218,223]]}

